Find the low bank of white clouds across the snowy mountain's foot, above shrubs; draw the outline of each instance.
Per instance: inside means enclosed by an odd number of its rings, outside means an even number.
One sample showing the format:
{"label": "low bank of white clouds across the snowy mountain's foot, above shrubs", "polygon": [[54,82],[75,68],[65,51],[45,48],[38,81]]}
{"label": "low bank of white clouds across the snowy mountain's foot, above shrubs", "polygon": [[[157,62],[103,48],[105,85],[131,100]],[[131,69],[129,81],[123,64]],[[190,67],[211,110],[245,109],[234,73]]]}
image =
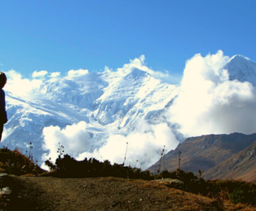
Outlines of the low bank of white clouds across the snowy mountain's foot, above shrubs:
{"label": "low bank of white clouds across the snowy mountain's foot, above shrubs", "polygon": [[67,126],[65,129],[60,129],[59,126],[45,127],[44,149],[49,150],[49,153],[44,154],[43,160],[51,157],[54,162],[58,157],[57,150],[60,143],[65,147],[65,153],[78,160],[94,157],[101,161],[108,159],[112,163],[122,164],[128,143],[125,165],[137,165],[146,169],[158,161],[164,146],[167,150],[173,150],[179,144],[167,123],[150,125],[144,122],[143,125],[140,123],[140,126],[143,130],[132,132],[127,136],[110,135],[105,144],[94,151],[90,150],[90,137],[86,132],[85,122]]}

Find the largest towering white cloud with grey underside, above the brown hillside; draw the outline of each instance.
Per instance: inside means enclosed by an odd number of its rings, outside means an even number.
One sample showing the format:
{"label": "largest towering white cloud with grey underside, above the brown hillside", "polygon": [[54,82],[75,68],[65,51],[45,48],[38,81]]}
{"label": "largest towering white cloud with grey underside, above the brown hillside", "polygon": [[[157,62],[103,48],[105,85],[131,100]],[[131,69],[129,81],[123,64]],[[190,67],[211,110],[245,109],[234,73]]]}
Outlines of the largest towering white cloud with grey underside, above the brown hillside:
{"label": "largest towering white cloud with grey underside, above the brown hillside", "polygon": [[256,131],[253,86],[229,81],[224,64],[228,57],[194,55],[185,65],[181,91],[167,112],[185,136]]}

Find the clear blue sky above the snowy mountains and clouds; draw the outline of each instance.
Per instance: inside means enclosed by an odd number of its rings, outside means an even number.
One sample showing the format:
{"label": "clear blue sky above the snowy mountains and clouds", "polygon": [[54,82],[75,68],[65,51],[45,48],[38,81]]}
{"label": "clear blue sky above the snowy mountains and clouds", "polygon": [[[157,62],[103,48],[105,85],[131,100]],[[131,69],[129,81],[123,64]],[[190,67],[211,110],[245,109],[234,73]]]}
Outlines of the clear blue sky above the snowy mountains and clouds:
{"label": "clear blue sky above the snowy mountains and clouds", "polygon": [[146,56],[182,76],[196,53],[256,61],[256,1],[17,0],[0,3],[0,69],[114,70]]}

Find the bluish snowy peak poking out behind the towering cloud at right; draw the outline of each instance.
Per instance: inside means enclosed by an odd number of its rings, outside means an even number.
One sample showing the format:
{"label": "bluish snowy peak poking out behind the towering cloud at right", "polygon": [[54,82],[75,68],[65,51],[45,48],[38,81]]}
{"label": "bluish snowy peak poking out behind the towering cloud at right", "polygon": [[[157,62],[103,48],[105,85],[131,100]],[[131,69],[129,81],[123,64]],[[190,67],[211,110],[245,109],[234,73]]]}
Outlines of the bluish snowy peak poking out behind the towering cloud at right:
{"label": "bluish snowy peak poking out behind the towering cloud at right", "polygon": [[228,70],[230,80],[239,82],[250,82],[256,86],[256,64],[243,55],[234,55],[225,64],[224,69]]}

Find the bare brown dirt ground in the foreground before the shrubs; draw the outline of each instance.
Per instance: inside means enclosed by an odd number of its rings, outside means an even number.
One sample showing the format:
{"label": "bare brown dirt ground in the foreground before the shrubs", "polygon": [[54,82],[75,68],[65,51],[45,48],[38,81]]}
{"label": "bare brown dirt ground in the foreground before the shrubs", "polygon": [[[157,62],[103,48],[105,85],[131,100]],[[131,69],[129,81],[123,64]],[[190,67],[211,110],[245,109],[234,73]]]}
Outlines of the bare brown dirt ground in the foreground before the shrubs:
{"label": "bare brown dirt ground in the foreground before the shrubs", "polygon": [[[7,177],[2,210],[244,210],[170,189],[155,181],[104,178]],[[253,210],[252,208],[247,208]]]}

